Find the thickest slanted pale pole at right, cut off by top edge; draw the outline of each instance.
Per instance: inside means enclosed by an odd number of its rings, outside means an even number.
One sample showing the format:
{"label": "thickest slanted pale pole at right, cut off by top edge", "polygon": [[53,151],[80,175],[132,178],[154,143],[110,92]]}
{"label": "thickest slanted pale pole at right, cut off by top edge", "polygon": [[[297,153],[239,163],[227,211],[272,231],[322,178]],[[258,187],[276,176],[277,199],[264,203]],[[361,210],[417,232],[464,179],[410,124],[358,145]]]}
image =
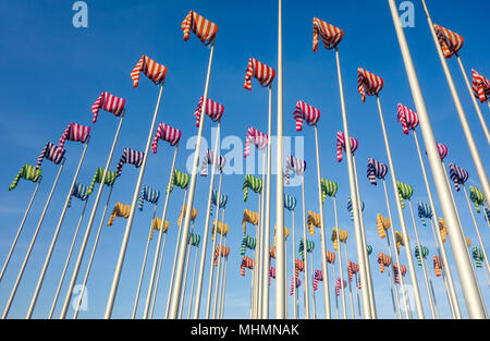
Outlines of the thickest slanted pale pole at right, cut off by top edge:
{"label": "thickest slanted pale pole at right, cut off by top edge", "polygon": [[[438,191],[442,214],[448,223],[448,229],[450,232],[449,238],[451,239],[451,247],[453,249],[454,260],[460,275],[460,280],[462,283],[463,294],[465,296],[468,314],[470,318],[486,318],[483,303],[481,302],[479,295],[478,283],[471,270],[471,260],[469,259],[468,253],[466,251],[463,234],[461,230],[457,228],[458,226],[457,217],[455,208],[452,205],[450,197],[451,190],[444,180],[444,169],[442,168],[441,165],[439,150],[436,145],[436,138],[433,136],[424,96],[421,94],[420,85],[418,83],[417,74],[415,72],[414,63],[412,61],[412,56],[408,49],[408,44],[405,38],[405,33],[403,32],[403,27],[400,22],[396,3],[394,0],[388,0],[388,2],[393,17],[393,24],[395,27],[403,60],[405,63],[405,69],[411,85],[412,95],[414,97],[415,107],[419,115],[420,129],[422,132],[425,145],[427,147],[427,155],[429,157],[430,168],[436,182],[436,188]],[[430,26],[432,28],[431,23]],[[445,63],[443,64],[446,65]],[[475,150],[471,150],[471,153],[474,154]],[[482,185],[486,185],[486,187],[488,188],[488,181],[486,182],[481,181],[481,183]],[[488,192],[489,191],[486,191],[486,193]]]}

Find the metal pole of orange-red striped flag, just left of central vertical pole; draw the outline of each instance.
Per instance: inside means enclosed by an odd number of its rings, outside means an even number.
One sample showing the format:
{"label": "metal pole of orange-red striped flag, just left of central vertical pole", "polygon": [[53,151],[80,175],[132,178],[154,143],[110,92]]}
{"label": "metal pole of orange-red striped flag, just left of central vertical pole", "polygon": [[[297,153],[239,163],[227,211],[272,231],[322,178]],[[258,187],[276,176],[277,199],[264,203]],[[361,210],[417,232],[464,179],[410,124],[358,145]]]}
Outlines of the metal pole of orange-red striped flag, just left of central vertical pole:
{"label": "metal pole of orange-red striped flag, just left of central vertical pole", "polygon": [[[267,130],[268,145],[267,145],[267,179],[266,179],[266,208],[265,208],[265,266],[264,266],[264,279],[262,282],[266,281],[266,278],[269,278],[269,266],[270,266],[270,257],[269,257],[269,247],[270,247],[270,182],[271,182],[271,168],[272,168],[272,150],[271,150],[271,134],[272,134],[272,85],[269,85],[269,113],[268,113],[268,130]],[[285,247],[285,246],[284,246]],[[284,252],[285,253],[285,252]],[[285,259],[286,260],[286,259]],[[284,261],[285,261],[284,260]],[[284,265],[284,271],[285,265]],[[284,280],[287,280],[287,276],[284,276]],[[286,287],[284,284],[284,287]],[[285,316],[287,316],[287,300],[284,305]],[[269,285],[264,289],[264,306],[262,306],[262,318],[269,318]]]}

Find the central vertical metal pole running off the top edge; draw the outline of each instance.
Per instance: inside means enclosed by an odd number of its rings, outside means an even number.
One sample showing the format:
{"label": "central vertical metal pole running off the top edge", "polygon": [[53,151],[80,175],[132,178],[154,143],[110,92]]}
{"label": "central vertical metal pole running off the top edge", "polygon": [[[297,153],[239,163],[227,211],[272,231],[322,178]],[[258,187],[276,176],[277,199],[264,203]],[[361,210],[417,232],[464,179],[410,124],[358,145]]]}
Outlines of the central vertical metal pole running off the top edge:
{"label": "central vertical metal pole running off the top edge", "polygon": [[[282,0],[278,1],[278,150],[275,156],[275,319],[285,318],[283,94],[282,94]],[[490,197],[490,196],[488,196]],[[296,285],[296,283],[294,283]]]}

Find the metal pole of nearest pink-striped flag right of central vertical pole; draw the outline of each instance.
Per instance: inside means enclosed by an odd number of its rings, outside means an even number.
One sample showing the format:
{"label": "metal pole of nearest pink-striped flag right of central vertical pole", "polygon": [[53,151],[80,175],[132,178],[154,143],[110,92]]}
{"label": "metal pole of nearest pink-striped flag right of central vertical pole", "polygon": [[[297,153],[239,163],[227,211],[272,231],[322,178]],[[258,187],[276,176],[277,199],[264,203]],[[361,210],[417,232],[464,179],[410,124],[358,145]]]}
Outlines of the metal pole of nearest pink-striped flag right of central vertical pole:
{"label": "metal pole of nearest pink-striped flag right of central vertical pole", "polygon": [[[327,243],[324,233],[323,203],[321,197],[320,150],[318,147],[318,129],[316,124],[315,124],[315,146],[317,155],[318,205],[320,207],[321,271],[323,272],[323,281],[328,282],[329,273],[327,272]],[[323,285],[323,305],[324,305],[324,318],[331,319],[329,285]]]}

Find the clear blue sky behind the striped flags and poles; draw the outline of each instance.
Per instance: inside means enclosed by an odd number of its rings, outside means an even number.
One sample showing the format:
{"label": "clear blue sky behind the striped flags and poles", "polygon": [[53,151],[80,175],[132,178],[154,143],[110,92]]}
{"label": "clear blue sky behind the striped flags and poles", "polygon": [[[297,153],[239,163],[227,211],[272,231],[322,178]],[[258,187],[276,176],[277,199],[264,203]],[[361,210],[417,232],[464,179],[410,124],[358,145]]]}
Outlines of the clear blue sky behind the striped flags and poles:
{"label": "clear blue sky behind the striped flags and poles", "polygon": [[[166,122],[182,130],[183,147],[180,148],[176,167],[177,169],[185,169],[186,161],[193,153],[192,147],[186,147],[186,142],[197,133],[193,113],[199,96],[204,92],[209,56],[209,49],[204,47],[194,36],[187,42],[182,39],[183,34],[180,23],[189,10],[195,10],[213,21],[219,27],[209,97],[225,107],[222,119],[223,138],[232,138],[231,141],[233,141],[233,136],[236,136],[244,141],[248,125],[267,131],[267,92],[260,88],[255,81],[253,82],[252,93],[246,92],[243,88],[243,83],[249,57],[277,68],[277,1],[221,0],[181,3],[148,0],[138,1],[137,4],[134,1],[86,2],[88,4],[88,28],[73,27],[72,16],[75,13],[72,11],[73,1],[36,1],[34,3],[32,1],[15,1],[0,4],[0,12],[3,14],[3,20],[0,23],[0,46],[3,51],[0,56],[0,70],[4,80],[0,85],[0,96],[3,98],[0,114],[0,143],[5,148],[3,155],[7,160],[0,169],[1,179],[3,179],[3,184],[0,186],[0,219],[3,226],[0,229],[0,260],[2,264],[34,190],[32,183],[21,181],[15,191],[9,192],[10,182],[22,165],[36,161],[46,142],[57,143],[70,122],[91,125],[90,107],[102,90],[124,97],[127,101],[127,114],[122,125],[111,169],[115,168],[124,148],[144,149],[158,88],[144,76],[140,77],[137,88],[132,87],[130,73],[142,54],[147,54],[169,68],[158,122]],[[426,17],[419,1],[414,1],[414,3],[415,27],[405,29],[405,33],[425,95],[432,129],[437,139],[446,144],[450,148],[446,161],[455,162],[467,169],[470,174],[468,184],[479,186],[479,180],[468,154],[463,130],[458,123]],[[454,29],[465,37],[465,46],[461,57],[467,72],[469,73],[470,68],[475,68],[483,75],[490,75],[490,62],[487,58],[489,47],[485,44],[487,41],[485,38],[485,32],[487,32],[486,13],[490,9],[489,3],[481,0],[466,2],[450,0],[445,1],[444,5],[440,5],[439,1],[429,0],[428,5],[434,23]],[[362,197],[366,203],[364,219],[367,242],[375,249],[370,257],[375,295],[379,317],[392,318],[393,312],[389,299],[388,279],[385,273],[384,276],[380,273],[376,261],[376,255],[379,252],[388,252],[384,241],[379,239],[376,231],[376,215],[380,212],[388,216],[388,211],[382,188],[371,186],[364,176],[368,157],[382,162],[387,162],[388,159],[380,131],[376,100],[369,97],[366,103],[363,103],[357,93],[357,68],[363,66],[384,80],[384,88],[380,97],[397,178],[400,181],[414,186],[413,202],[416,205],[417,200],[428,202],[428,197],[413,137],[403,135],[401,125],[396,121],[396,105],[399,102],[411,108],[414,107],[403,60],[387,1],[307,1],[306,3],[283,1],[284,134],[292,137],[304,136],[304,158],[308,162],[305,181],[306,209],[318,211],[317,180],[314,168],[314,132],[306,127],[297,134],[292,113],[298,99],[321,110],[318,127],[322,176],[339,183],[339,223],[341,228],[350,232],[348,253],[350,258],[355,261],[357,259],[353,223],[346,210],[350,192],[346,163],[345,161],[338,163],[335,159],[335,133],[342,129],[342,119],[334,56],[332,51],[326,51],[322,48],[319,48],[318,53],[313,52],[311,22],[314,16],[334,24],[345,32],[344,39],[340,45],[340,56],[350,131],[352,136],[360,142],[356,153],[357,172]],[[488,169],[489,162],[486,158],[488,145],[486,145],[475,109],[456,61],[449,60],[449,64],[482,157],[483,166]],[[277,124],[275,87],[273,88],[273,96],[272,127],[274,133]],[[482,110],[483,113],[488,112],[485,107]],[[95,169],[103,167],[106,162],[117,120],[112,114],[102,112],[98,122],[91,126],[90,146],[78,176],[78,181],[85,184],[88,184],[91,180]],[[215,124],[207,120],[204,136],[209,145],[211,144],[211,126],[215,126]],[[17,295],[9,315],[12,318],[25,317],[66,191],[82,153],[79,144],[68,142],[65,147],[68,149],[65,169],[62,172],[19,287]],[[230,151],[223,146],[222,154],[229,153],[231,153],[230,157],[233,153],[238,158],[242,155],[240,149],[238,151]],[[145,184],[159,190],[164,188],[172,154],[173,149],[161,143],[158,154],[148,158]],[[9,299],[57,170],[57,167],[49,161],[42,163],[44,181],[39,194],[33,205],[5,277],[0,283],[0,307],[2,309]],[[112,209],[115,202],[131,203],[137,174],[138,171],[133,166],[124,166],[122,176],[114,185],[109,210]],[[248,203],[243,203],[241,190],[243,179],[243,173],[228,174],[223,179],[223,191],[229,196],[225,222],[230,224],[228,243],[231,246],[225,299],[225,317],[228,318],[248,317],[249,272],[247,272],[246,278],[240,276],[241,256],[238,249],[243,235],[241,221],[243,209],[256,209],[258,204],[255,195],[249,196]],[[273,178],[272,193],[275,188]],[[194,207],[199,210],[196,230],[200,234],[203,234],[205,223],[208,186],[209,176],[198,176]],[[432,190],[434,190],[433,185]],[[301,186],[286,188],[285,191],[296,198],[301,198]],[[101,203],[106,200],[107,194],[108,191],[106,190]],[[389,195],[392,200],[394,224],[396,230],[400,230],[399,217],[393,206],[393,193],[390,192]],[[169,204],[167,219],[170,220],[171,228],[155,309],[155,317],[157,318],[163,316],[167,304],[169,269],[173,261],[177,231],[176,219],[182,199],[183,192],[175,191]],[[477,236],[463,193],[455,193],[455,199],[465,233],[475,244],[477,243]],[[89,202],[88,207],[90,209],[93,200],[94,198]],[[271,207],[274,207],[274,202],[275,198],[272,196]],[[162,211],[162,203],[159,205],[159,216]],[[66,214],[33,315],[35,318],[44,318],[49,312],[81,209],[82,203],[74,200]],[[302,205],[298,205],[295,215],[296,241],[298,241],[303,228],[301,209]],[[440,212],[439,207],[437,209]],[[82,281],[101,211],[102,204],[98,209],[77,282]],[[131,317],[151,211],[152,208],[146,205],[143,212],[136,212],[126,261],[114,304],[114,318]],[[334,220],[333,208],[329,200],[326,202],[324,215],[326,229],[331,231]],[[275,212],[272,210],[271,226],[274,224],[274,217]],[[83,231],[87,218],[88,214],[86,214],[82,224]],[[483,241],[488,241],[489,234],[483,217],[477,215],[476,218]],[[414,241],[413,224],[407,210],[405,210],[405,219],[409,235]],[[418,218],[416,220],[421,243],[430,248],[430,256],[432,256],[436,252],[432,233],[420,224]],[[285,214],[285,221],[286,226],[290,227],[291,216],[289,212]],[[118,218],[112,227],[103,226],[87,283],[88,310],[81,312],[79,318],[101,318],[103,316],[124,227],[125,222],[121,218]],[[255,230],[250,231],[255,233]],[[317,232],[313,239],[318,245],[319,233]],[[77,240],[76,254],[81,240],[81,238]],[[289,260],[291,261],[291,240],[287,243]],[[155,243],[150,247],[150,255],[152,255],[154,249]],[[328,249],[332,249],[331,243],[328,244]],[[449,242],[446,243],[446,251],[452,259]],[[402,264],[406,264],[404,253],[401,255]],[[319,248],[315,249],[314,257],[315,268],[320,269]],[[191,261],[192,266],[194,253]],[[291,263],[289,264],[287,276],[290,280],[292,272]],[[466,317],[467,313],[457,273],[453,265],[451,266],[456,280],[460,305],[463,316]],[[69,276],[71,276],[73,260],[69,268]],[[208,282],[208,271],[209,261],[206,266],[205,283]],[[330,277],[332,277],[331,273]],[[432,268],[431,277],[436,287],[441,317],[448,318],[450,313],[443,282],[440,278],[434,278]],[[488,305],[490,295],[482,269],[477,269],[477,277],[481,285],[483,300]],[[425,314],[429,317],[427,291],[422,281],[421,269],[418,267],[417,278],[419,279]],[[142,313],[147,285],[148,276],[145,277],[144,281],[138,316]],[[332,288],[331,285],[331,302],[333,303]],[[66,283],[62,289],[60,301],[64,300],[65,290]],[[273,312],[274,304],[273,290],[274,281],[272,280],[271,312]],[[203,293],[203,302],[205,303],[207,284]],[[188,291],[186,297],[188,299]],[[321,318],[323,317],[321,290],[317,292],[316,299],[317,314]],[[186,300],[184,304],[184,316],[187,312],[187,302]],[[201,307],[204,307],[204,303]],[[60,308],[61,303],[59,302],[54,316],[59,315]],[[289,310],[292,312],[292,300],[290,300]],[[332,306],[332,312],[334,312],[334,306]],[[347,312],[350,313],[348,301]],[[71,317],[72,313],[73,310],[69,310],[68,316]],[[303,316],[303,313],[301,316]]]}

